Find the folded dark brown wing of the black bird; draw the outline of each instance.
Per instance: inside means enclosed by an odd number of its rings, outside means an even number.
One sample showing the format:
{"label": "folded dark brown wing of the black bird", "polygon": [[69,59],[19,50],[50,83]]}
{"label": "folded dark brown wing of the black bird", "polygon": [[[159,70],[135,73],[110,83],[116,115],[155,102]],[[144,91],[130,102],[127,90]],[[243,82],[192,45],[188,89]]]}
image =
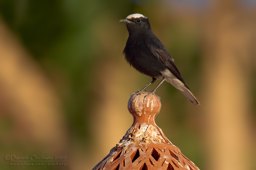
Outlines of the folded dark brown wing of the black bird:
{"label": "folded dark brown wing of the black bird", "polygon": [[164,48],[164,45],[158,39],[145,38],[144,42],[150,51],[156,56],[156,58],[160,60],[175,77],[177,77],[182,83],[184,83],[184,85],[186,85],[183,78],[180,76],[180,71],[174,64],[174,60]]}

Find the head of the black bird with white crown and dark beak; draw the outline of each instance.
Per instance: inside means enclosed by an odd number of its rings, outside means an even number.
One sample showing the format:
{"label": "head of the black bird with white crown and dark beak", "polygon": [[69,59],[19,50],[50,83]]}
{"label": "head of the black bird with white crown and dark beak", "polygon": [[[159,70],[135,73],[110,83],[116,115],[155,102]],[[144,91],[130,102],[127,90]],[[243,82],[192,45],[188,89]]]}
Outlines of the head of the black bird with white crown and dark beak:
{"label": "head of the black bird with white crown and dark beak", "polygon": [[119,22],[125,22],[129,34],[151,31],[148,18],[141,14],[128,15]]}

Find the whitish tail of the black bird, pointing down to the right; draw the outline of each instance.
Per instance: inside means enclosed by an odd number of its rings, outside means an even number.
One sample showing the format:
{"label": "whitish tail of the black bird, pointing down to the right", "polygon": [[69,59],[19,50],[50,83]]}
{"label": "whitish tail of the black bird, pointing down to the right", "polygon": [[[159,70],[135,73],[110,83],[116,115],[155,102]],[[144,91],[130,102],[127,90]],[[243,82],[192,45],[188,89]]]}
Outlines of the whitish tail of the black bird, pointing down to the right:
{"label": "whitish tail of the black bird, pointing down to the right", "polygon": [[183,84],[180,80],[167,78],[166,81],[172,84],[176,89],[180,90],[188,98],[188,100],[190,100],[195,106],[200,105],[196,97],[192,94],[188,87],[185,84]]}

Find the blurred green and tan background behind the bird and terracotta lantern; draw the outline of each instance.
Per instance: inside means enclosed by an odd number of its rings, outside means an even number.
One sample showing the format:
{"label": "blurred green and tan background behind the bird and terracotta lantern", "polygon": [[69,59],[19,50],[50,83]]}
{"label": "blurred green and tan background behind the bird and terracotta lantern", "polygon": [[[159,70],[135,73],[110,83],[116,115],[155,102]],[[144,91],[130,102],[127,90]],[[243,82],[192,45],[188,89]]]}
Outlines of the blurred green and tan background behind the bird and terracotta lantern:
{"label": "blurred green and tan background behind the bird and terracotta lantern", "polygon": [[[119,20],[133,13],[201,103],[161,85],[164,134],[200,169],[256,169],[255,1],[0,0],[1,169],[92,169],[119,142],[130,93],[151,81],[122,55]],[[67,162],[11,166],[5,155]]]}

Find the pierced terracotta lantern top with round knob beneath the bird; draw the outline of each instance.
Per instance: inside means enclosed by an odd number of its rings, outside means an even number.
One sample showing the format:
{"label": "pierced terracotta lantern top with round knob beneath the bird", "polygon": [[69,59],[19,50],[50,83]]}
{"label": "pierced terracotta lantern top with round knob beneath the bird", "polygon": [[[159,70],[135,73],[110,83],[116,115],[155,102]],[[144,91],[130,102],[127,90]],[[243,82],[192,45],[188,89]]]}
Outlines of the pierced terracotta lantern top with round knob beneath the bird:
{"label": "pierced terracotta lantern top with round knob beneath the bird", "polygon": [[159,99],[148,93],[134,93],[128,102],[133,124],[123,139],[93,170],[171,170],[199,168],[174,146],[156,125]]}

